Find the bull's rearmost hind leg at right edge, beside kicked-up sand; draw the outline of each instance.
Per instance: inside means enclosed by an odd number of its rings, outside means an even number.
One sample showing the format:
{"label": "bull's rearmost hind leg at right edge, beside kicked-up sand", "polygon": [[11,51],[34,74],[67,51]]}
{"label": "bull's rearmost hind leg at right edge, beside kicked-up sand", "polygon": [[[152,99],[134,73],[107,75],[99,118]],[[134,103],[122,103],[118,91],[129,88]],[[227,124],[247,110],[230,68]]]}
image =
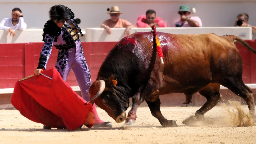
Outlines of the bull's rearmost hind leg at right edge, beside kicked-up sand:
{"label": "bull's rearmost hind leg at right edge, beside kicked-up sand", "polygon": [[225,82],[221,84],[236,95],[242,97],[248,105],[251,117],[256,119],[253,90],[244,84],[242,78],[228,77],[224,80]]}

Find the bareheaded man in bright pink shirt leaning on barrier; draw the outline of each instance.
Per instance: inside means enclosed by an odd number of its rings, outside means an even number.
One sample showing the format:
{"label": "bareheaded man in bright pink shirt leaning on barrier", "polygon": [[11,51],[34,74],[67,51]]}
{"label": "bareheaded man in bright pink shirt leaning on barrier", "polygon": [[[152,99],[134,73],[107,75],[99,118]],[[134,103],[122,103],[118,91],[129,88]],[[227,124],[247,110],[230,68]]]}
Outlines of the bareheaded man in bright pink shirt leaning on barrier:
{"label": "bareheaded man in bright pink shirt leaning on barrier", "polygon": [[155,25],[156,27],[166,27],[166,22],[160,17],[156,17],[156,12],[154,10],[146,11],[146,15],[140,15],[136,23],[137,27],[151,27]]}

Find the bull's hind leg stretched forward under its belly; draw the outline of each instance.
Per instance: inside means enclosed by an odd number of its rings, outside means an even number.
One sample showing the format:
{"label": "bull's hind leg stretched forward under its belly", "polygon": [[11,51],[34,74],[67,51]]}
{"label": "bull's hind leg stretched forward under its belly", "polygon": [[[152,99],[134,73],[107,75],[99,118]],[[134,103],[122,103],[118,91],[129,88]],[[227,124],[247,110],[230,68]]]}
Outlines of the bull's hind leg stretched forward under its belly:
{"label": "bull's hind leg stretched forward under its belly", "polygon": [[220,102],[222,95],[220,95],[220,84],[213,83],[203,90],[199,91],[201,95],[206,97],[207,101],[205,104],[196,111],[196,119],[201,119],[204,117],[204,114],[211,110],[218,102]]}

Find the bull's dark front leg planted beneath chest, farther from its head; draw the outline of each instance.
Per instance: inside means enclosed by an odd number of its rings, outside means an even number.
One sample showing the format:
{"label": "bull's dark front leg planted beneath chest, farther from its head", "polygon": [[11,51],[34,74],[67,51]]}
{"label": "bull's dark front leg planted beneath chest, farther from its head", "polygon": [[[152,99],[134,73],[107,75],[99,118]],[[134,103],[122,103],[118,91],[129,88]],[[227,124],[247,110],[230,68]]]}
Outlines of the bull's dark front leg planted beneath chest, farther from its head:
{"label": "bull's dark front leg planted beneath chest, farther from its head", "polygon": [[150,102],[150,101],[147,101],[147,104],[148,104],[148,107],[151,111],[151,114],[156,117],[160,124],[163,126],[163,127],[175,127],[177,126],[176,122],[173,121],[173,120],[167,120],[166,118],[164,118],[164,116],[162,115],[161,111],[160,111],[160,99],[157,98],[154,102]]}

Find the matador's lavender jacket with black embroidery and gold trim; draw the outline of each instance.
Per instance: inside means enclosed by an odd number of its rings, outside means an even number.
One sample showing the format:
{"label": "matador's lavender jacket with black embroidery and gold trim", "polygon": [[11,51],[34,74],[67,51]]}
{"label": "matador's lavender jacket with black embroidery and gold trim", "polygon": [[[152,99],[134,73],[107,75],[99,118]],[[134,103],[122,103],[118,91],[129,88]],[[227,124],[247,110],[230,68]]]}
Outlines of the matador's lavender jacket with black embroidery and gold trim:
{"label": "matador's lavender jacket with black embroidery and gold trim", "polygon": [[[67,7],[66,7],[67,8]],[[68,8],[67,8],[68,9]],[[62,28],[59,28],[53,21],[49,20],[44,25],[43,41],[44,45],[40,53],[39,63],[37,68],[45,68],[54,45],[59,50],[70,49],[76,47],[75,41],[79,39],[79,32],[83,36],[81,29],[78,27],[74,19],[74,13],[68,9],[71,19],[65,23]]]}

